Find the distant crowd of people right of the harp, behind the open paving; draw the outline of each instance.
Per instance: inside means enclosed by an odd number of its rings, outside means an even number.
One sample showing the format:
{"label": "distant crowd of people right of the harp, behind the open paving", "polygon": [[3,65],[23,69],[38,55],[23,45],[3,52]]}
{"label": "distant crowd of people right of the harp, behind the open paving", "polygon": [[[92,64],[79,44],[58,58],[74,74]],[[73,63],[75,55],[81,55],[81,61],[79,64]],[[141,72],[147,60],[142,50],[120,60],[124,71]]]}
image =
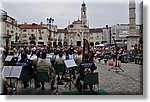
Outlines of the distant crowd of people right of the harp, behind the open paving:
{"label": "distant crowd of people right of the harp, behind the open paving", "polygon": [[130,50],[127,50],[125,47],[117,47],[117,50],[113,46],[109,48],[103,47],[96,50],[96,56],[99,62],[104,59],[105,63],[109,59],[113,59],[113,61],[117,59],[122,63],[134,62],[136,57],[143,58],[143,48],[137,45],[131,46]]}

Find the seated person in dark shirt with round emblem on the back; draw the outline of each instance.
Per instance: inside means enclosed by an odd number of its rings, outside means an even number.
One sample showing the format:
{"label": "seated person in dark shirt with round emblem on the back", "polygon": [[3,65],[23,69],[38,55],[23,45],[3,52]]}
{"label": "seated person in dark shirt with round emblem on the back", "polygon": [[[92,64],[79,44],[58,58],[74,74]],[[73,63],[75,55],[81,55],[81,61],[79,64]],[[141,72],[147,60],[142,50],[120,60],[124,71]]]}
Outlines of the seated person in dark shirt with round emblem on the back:
{"label": "seated person in dark shirt with round emblem on the back", "polygon": [[[80,75],[77,78],[76,87],[79,91],[81,91],[80,80],[84,80],[85,74],[93,73],[94,70],[96,70],[97,67],[95,66],[94,62],[89,60],[89,55],[85,54],[84,60],[80,63],[79,68],[80,68],[79,69],[79,74]],[[92,91],[93,90],[93,85],[89,85],[89,87],[90,87],[90,90]],[[84,85],[84,88],[87,88],[87,86]]]}

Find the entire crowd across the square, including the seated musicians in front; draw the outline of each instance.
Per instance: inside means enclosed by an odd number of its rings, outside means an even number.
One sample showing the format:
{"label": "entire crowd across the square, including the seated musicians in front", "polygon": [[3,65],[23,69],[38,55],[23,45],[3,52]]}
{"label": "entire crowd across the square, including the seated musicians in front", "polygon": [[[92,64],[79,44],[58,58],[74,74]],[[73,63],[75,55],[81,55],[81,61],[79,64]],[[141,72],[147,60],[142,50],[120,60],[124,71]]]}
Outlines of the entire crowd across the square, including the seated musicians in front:
{"label": "entire crowd across the square, including the seated musicians in front", "polygon": [[[92,73],[97,69],[94,59],[105,60],[105,63],[109,59],[116,60],[116,52],[118,52],[117,60],[131,62],[136,56],[142,57],[142,47],[132,46],[131,50],[127,51],[124,48],[118,47],[116,50],[115,47],[90,47],[89,53],[85,54],[84,59],[82,58],[83,49],[82,47],[48,47],[48,46],[39,46],[39,47],[6,47],[2,51],[2,66],[14,66],[14,65],[23,65],[23,71],[26,71],[30,77],[30,79],[34,79],[35,88],[41,87],[42,90],[45,90],[44,82],[39,83],[36,80],[36,72],[38,69],[46,70],[52,78],[51,81],[51,90],[55,90],[55,80],[58,82],[62,82],[60,80],[65,80],[65,73],[62,74],[60,78],[57,73],[55,66],[57,64],[64,64],[64,60],[70,59],[70,55],[73,56],[77,68],[72,71],[73,79],[76,79],[75,86],[79,91],[81,91],[80,80],[84,79],[86,72]],[[47,54],[52,55],[52,57],[47,60]],[[11,55],[13,56],[12,60],[7,62],[5,58]],[[36,56],[32,59],[33,56]],[[56,58],[56,56],[59,56]],[[126,60],[124,59],[126,56]],[[88,70],[88,71],[87,71]],[[22,71],[22,72],[23,72]],[[76,78],[76,73],[79,73],[79,76]],[[28,81],[23,81],[24,88],[29,86]],[[60,83],[63,84],[63,83]],[[7,85],[8,87],[9,85]],[[5,86],[4,89],[7,88]],[[89,86],[90,90],[93,90],[92,85]],[[84,88],[87,88],[85,86]],[[5,90],[6,91],[6,90]]]}

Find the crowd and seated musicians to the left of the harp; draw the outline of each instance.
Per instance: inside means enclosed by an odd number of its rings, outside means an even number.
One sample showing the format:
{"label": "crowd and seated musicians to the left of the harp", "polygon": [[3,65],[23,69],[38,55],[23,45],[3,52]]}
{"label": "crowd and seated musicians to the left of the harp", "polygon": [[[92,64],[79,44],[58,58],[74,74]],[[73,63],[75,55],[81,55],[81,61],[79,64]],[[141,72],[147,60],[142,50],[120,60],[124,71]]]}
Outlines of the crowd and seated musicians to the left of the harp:
{"label": "crowd and seated musicians to the left of the harp", "polygon": [[[47,55],[50,54],[52,57],[47,59]],[[36,71],[39,69],[47,70],[50,77],[52,78],[51,81],[51,90],[55,90],[55,80],[64,80],[65,74],[63,73],[61,79],[59,74],[57,73],[55,66],[57,64],[64,64],[64,60],[70,59],[70,55],[73,56],[77,68],[72,71],[73,79],[76,79],[76,73],[79,72],[82,75],[82,71],[79,71],[80,64],[82,62],[82,49],[81,48],[74,48],[70,46],[69,48],[64,47],[62,48],[49,48],[46,46],[40,47],[10,47],[5,48],[2,52],[2,66],[16,66],[22,65],[22,73],[25,71],[28,73],[30,79],[34,79],[35,88],[41,87],[42,90],[45,90],[44,82],[39,83],[36,80]],[[13,56],[11,61],[5,61],[7,56]],[[32,59],[33,56],[36,56]],[[56,58],[56,56],[59,56]],[[80,69],[81,70],[81,69]],[[66,72],[67,70],[65,70]],[[93,69],[92,69],[93,71]],[[22,77],[22,76],[20,76]],[[78,78],[80,79],[80,78]],[[83,79],[83,78],[82,78]],[[60,83],[63,84],[63,83]],[[76,83],[76,85],[78,82]],[[29,87],[28,81],[23,81],[24,88]],[[8,85],[7,85],[8,87]],[[6,89],[6,86],[5,88]],[[6,90],[5,90],[6,91]]]}

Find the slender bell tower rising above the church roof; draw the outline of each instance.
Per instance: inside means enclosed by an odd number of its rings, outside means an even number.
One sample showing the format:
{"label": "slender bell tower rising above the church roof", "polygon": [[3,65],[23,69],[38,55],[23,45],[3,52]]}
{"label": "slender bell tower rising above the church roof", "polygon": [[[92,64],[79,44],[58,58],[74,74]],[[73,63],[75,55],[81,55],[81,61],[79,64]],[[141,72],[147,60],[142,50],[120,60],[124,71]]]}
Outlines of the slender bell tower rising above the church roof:
{"label": "slender bell tower rising above the church roof", "polygon": [[82,25],[86,25],[87,26],[87,11],[86,11],[86,4],[82,3],[82,7],[81,7],[81,21],[82,21]]}

